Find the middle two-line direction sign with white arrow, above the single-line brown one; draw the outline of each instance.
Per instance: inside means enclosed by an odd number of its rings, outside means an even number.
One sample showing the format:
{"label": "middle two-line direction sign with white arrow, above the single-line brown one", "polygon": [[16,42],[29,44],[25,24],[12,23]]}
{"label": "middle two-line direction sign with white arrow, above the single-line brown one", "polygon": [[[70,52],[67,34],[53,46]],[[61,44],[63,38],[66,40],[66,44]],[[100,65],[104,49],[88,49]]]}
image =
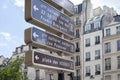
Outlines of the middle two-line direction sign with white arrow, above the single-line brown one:
{"label": "middle two-line direction sign with white arrow, above the single-line brown one", "polygon": [[47,50],[67,54],[74,53],[73,43],[35,27],[25,30],[25,42],[26,44],[32,44]]}

